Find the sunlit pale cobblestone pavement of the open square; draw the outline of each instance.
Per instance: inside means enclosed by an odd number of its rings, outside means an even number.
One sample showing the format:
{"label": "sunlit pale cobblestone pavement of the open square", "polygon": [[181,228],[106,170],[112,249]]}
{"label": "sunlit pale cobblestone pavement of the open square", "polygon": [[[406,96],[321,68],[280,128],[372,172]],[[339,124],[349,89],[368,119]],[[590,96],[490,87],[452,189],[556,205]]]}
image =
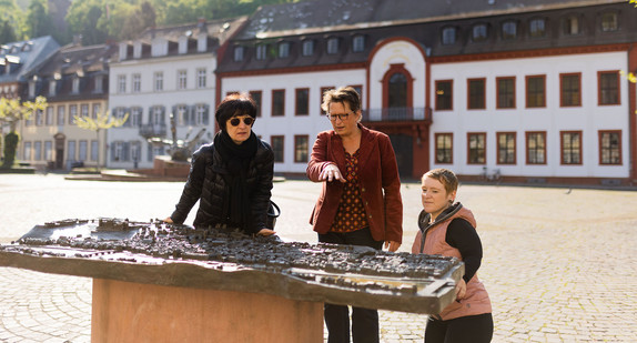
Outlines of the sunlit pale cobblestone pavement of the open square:
{"label": "sunlit pale cobblestone pavement of the open square", "polygon": [[[182,183],[0,175],[0,243],[46,221],[165,218]],[[316,242],[307,224],[320,184],[275,183],[286,240]],[[419,185],[403,185],[408,251]],[[637,341],[637,192],[463,185],[484,245],[478,272],[494,305],[494,342]],[[194,211],[186,223],[192,223]],[[91,280],[0,268],[0,342],[89,342]],[[422,342],[426,316],[381,311],[382,342]]]}

